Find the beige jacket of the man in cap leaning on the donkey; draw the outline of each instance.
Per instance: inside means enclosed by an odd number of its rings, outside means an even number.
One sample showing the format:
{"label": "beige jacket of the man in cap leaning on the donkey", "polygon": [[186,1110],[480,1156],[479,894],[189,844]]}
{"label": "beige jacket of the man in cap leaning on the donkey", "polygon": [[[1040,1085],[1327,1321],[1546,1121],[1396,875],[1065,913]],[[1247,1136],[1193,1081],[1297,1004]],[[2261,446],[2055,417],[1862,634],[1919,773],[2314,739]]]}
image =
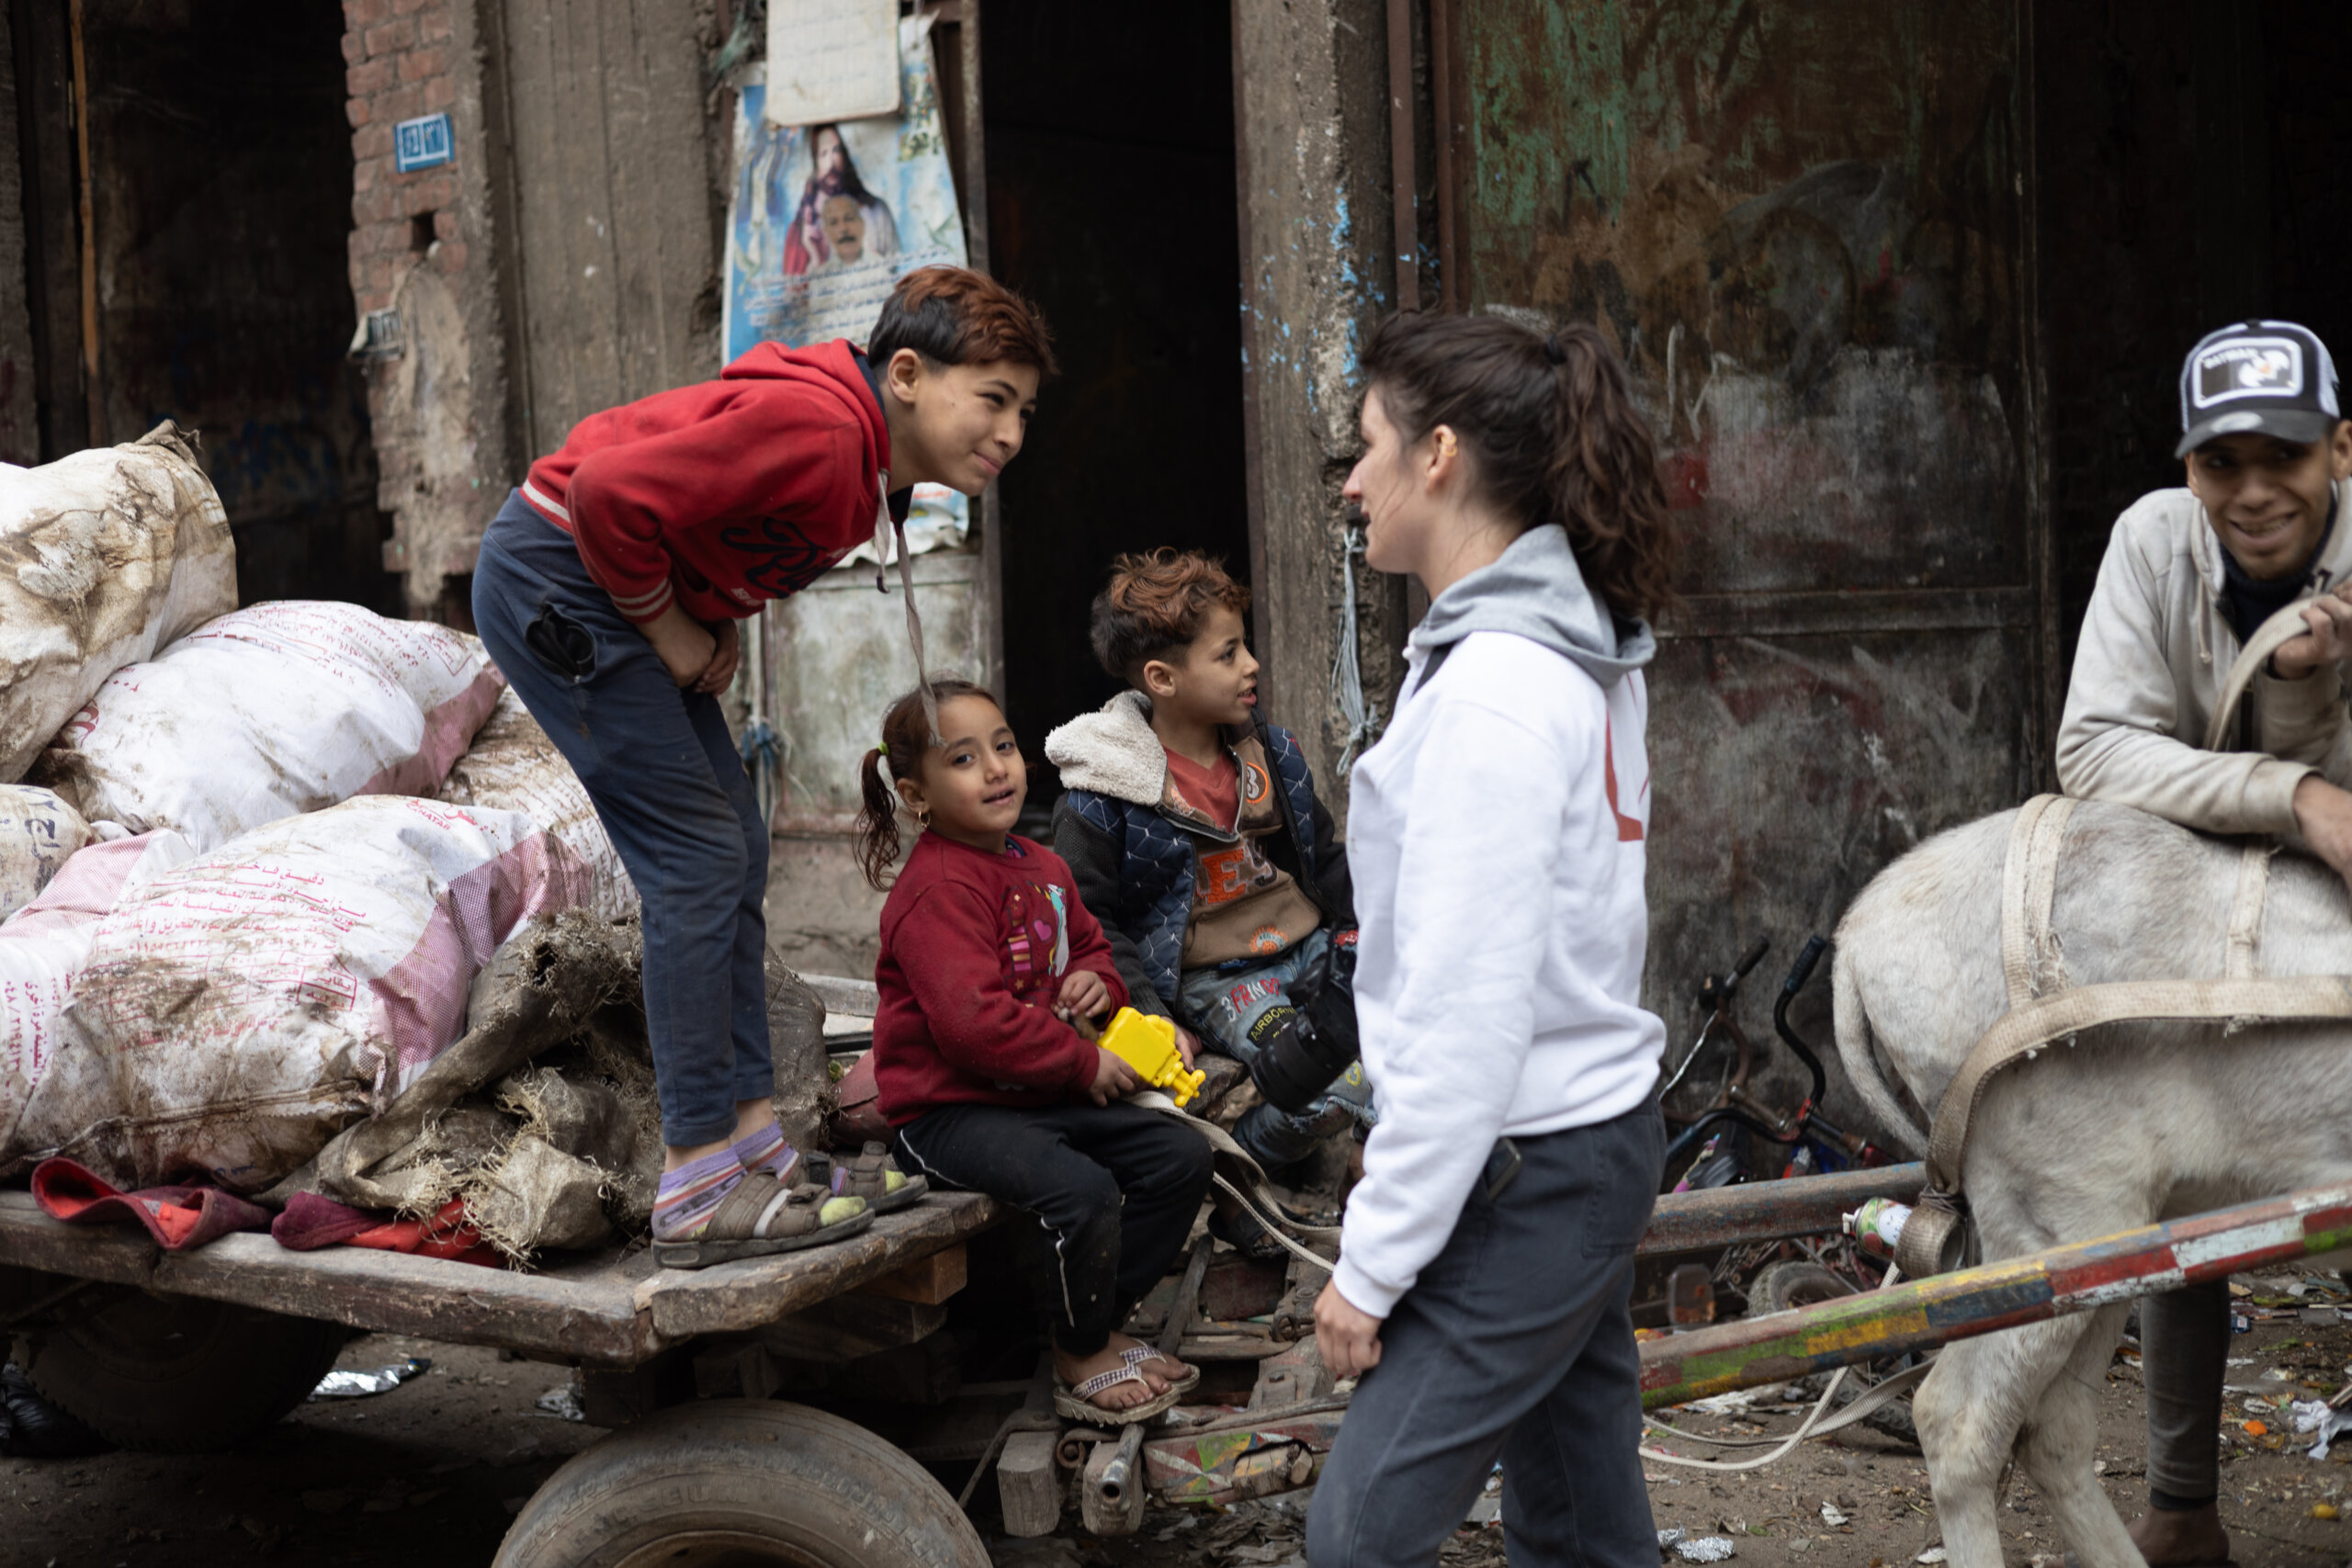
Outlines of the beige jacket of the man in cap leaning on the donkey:
{"label": "beige jacket of the man in cap leaning on the donkey", "polygon": [[[2352,576],[2352,480],[2312,592]],[[2140,496],[2107,538],[2058,726],[2058,788],[2204,832],[2296,832],[2296,785],[2319,771],[2352,788],[2343,665],[2298,682],[2258,675],[2237,748],[2199,750],[2237,632],[2220,604],[2220,541],[2185,489]]]}

